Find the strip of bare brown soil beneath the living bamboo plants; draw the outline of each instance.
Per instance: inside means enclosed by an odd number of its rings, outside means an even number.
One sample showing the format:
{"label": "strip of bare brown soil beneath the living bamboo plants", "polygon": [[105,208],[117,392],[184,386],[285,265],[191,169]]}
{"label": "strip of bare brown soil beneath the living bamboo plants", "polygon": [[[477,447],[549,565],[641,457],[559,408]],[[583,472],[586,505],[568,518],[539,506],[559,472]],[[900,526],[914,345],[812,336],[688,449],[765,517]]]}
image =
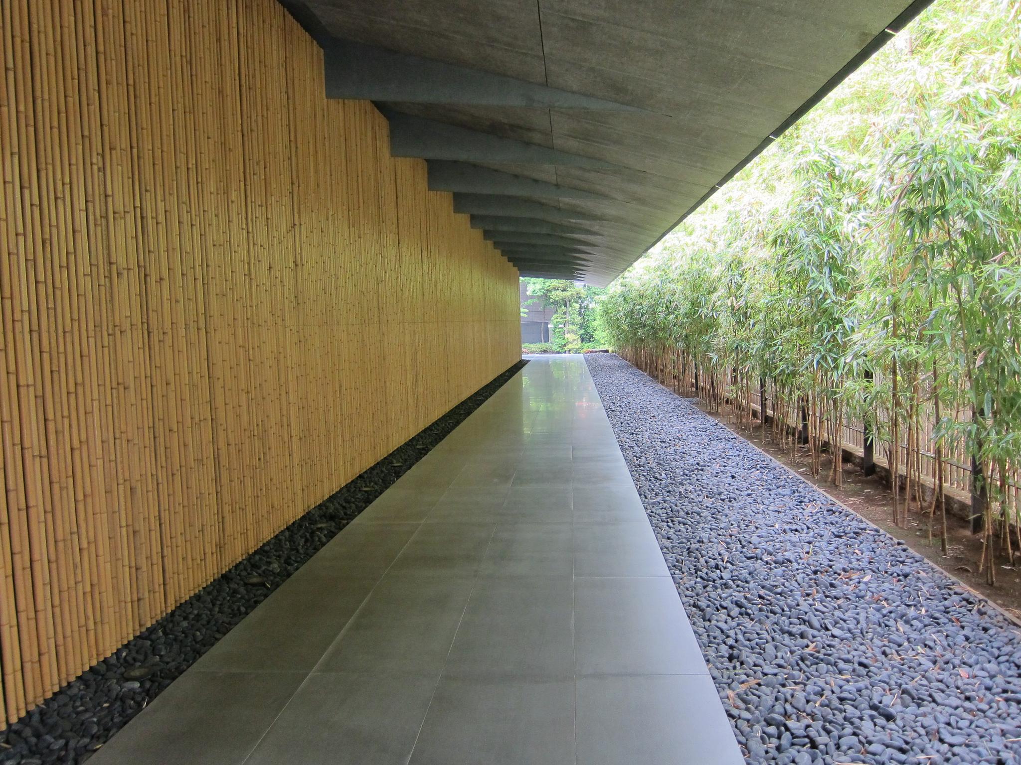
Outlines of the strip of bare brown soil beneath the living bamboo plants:
{"label": "strip of bare brown soil beneath the living bamboo plants", "polygon": [[914,508],[909,514],[907,528],[894,525],[891,520],[893,494],[882,478],[875,475],[866,476],[860,467],[844,462],[843,486],[837,489],[828,479],[831,462],[827,455],[823,456],[819,476],[814,476],[808,447],[799,447],[796,453],[791,454],[789,450],[781,449],[774,443],[768,430],[764,441],[761,426],[756,426],[749,431],[747,426],[735,425],[727,422],[721,414],[707,411],[700,402],[698,406],[708,415],[789,467],[820,491],[891,537],[902,540],[916,553],[961,581],[964,586],[981,594],[1021,623],[1021,564],[1017,562],[1012,564],[1006,558],[999,559],[996,583],[986,584],[985,574],[980,573],[978,569],[978,561],[982,554],[982,539],[971,532],[966,521],[947,514],[946,538],[950,555],[943,555],[939,544],[938,515],[934,518],[931,534],[928,514],[919,513]]}

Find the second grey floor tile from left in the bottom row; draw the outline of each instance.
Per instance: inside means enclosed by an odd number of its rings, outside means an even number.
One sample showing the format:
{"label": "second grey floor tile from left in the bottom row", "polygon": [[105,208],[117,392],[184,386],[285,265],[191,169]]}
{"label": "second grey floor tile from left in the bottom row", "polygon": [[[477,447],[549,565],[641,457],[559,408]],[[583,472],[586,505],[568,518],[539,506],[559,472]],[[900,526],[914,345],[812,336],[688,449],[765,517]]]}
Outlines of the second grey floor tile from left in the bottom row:
{"label": "second grey floor tile from left in the bottom row", "polygon": [[313,674],[245,765],[405,765],[438,679],[379,672]]}

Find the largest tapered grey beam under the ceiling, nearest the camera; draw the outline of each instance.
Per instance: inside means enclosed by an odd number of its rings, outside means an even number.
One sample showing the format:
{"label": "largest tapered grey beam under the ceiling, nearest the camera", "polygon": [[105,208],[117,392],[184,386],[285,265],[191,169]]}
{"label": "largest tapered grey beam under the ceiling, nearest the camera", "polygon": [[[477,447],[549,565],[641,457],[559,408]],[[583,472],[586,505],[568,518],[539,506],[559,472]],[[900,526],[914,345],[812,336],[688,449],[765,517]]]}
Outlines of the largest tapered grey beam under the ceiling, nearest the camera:
{"label": "largest tapered grey beam under the ceiling, nearest the camera", "polygon": [[333,39],[323,42],[328,98],[420,104],[532,106],[643,111],[601,98],[457,66],[431,58]]}

